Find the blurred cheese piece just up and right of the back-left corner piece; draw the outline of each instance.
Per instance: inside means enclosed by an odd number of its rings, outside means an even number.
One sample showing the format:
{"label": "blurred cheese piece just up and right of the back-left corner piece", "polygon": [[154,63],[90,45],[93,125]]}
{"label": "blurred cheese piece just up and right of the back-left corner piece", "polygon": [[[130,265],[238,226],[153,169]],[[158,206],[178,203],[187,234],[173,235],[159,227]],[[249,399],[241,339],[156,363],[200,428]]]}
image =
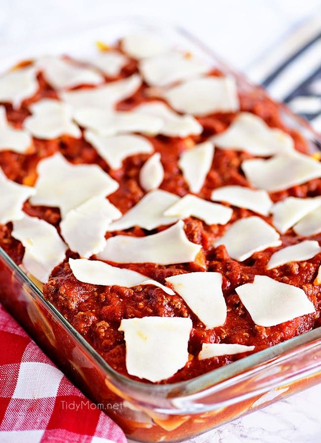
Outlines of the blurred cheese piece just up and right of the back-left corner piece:
{"label": "blurred cheese piece just up and right of the back-left corner piece", "polygon": [[81,66],[61,56],[45,55],[36,61],[35,66],[55,89],[98,85],[104,81],[104,77],[96,69]]}

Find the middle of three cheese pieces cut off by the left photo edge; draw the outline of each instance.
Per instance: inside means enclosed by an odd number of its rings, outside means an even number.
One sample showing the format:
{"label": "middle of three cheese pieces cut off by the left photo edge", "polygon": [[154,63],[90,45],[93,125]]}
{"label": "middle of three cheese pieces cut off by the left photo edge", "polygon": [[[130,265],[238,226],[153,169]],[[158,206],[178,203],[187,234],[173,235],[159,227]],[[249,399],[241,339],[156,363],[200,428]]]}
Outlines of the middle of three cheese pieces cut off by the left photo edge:
{"label": "middle of three cheese pieces cut off by the left photo edge", "polygon": [[7,122],[5,107],[0,106],[0,151],[10,150],[25,154],[32,144],[32,138],[27,131],[16,129]]}

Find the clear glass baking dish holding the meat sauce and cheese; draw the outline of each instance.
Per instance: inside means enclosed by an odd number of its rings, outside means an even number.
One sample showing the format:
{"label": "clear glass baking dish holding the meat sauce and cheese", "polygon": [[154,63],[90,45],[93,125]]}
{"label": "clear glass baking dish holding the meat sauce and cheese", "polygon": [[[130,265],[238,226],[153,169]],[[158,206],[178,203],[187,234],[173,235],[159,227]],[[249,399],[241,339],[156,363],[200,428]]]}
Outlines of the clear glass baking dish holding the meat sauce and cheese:
{"label": "clear glass baking dish holding the meat sauce and cheese", "polygon": [[[18,50],[7,46],[0,49],[2,67],[9,68],[41,53],[85,58],[95,50],[95,42],[113,43],[137,30],[151,30],[207,58],[221,71],[236,76],[241,91],[266,98],[261,88],[231,71],[186,31],[159,21],[115,20],[44,42],[25,41]],[[280,111],[284,123],[298,129],[311,153],[316,152],[321,137],[282,104]],[[151,385],[113,370],[2,249],[0,301],[71,380],[133,440],[182,441],[321,382],[321,327],[192,380]]]}

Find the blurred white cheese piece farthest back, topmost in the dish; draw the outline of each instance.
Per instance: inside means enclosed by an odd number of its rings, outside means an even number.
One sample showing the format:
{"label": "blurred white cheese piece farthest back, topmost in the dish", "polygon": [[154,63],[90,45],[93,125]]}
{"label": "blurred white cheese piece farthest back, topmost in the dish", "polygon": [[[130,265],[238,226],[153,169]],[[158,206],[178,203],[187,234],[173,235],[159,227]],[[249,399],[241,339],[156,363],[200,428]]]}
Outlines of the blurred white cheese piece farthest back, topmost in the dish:
{"label": "blurred white cheese piece farthest back, topmost in the dish", "polygon": [[168,50],[168,44],[162,37],[149,32],[137,32],[125,36],[121,49],[132,58],[152,57]]}

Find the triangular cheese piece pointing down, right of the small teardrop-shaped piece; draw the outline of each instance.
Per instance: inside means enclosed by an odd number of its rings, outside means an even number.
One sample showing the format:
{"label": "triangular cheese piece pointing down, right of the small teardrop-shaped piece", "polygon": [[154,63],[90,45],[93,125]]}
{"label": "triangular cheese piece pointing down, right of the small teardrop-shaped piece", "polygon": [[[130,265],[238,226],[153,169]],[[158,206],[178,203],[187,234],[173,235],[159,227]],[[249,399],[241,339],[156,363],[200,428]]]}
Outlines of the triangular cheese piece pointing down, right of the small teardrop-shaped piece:
{"label": "triangular cheese piece pointing down, right of the small teardrop-shaped piece", "polygon": [[214,146],[211,142],[201,143],[181,154],[178,166],[192,192],[199,193],[201,191],[212,166],[213,156]]}

